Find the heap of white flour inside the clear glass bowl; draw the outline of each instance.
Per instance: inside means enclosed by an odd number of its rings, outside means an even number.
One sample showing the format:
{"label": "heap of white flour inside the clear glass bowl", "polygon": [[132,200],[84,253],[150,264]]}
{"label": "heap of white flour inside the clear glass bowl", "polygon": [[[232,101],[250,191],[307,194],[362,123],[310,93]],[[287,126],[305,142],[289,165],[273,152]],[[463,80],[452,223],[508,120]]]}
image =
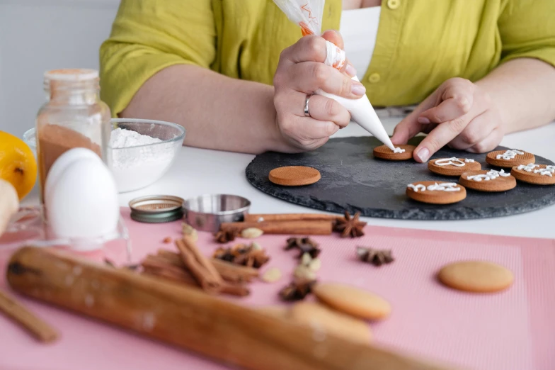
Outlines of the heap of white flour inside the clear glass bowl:
{"label": "heap of white flour inside the clear glass bowl", "polygon": [[109,163],[120,193],[144,188],[166,172],[173,159],[175,143],[139,146],[161,141],[132,130],[116,128],[112,131]]}

